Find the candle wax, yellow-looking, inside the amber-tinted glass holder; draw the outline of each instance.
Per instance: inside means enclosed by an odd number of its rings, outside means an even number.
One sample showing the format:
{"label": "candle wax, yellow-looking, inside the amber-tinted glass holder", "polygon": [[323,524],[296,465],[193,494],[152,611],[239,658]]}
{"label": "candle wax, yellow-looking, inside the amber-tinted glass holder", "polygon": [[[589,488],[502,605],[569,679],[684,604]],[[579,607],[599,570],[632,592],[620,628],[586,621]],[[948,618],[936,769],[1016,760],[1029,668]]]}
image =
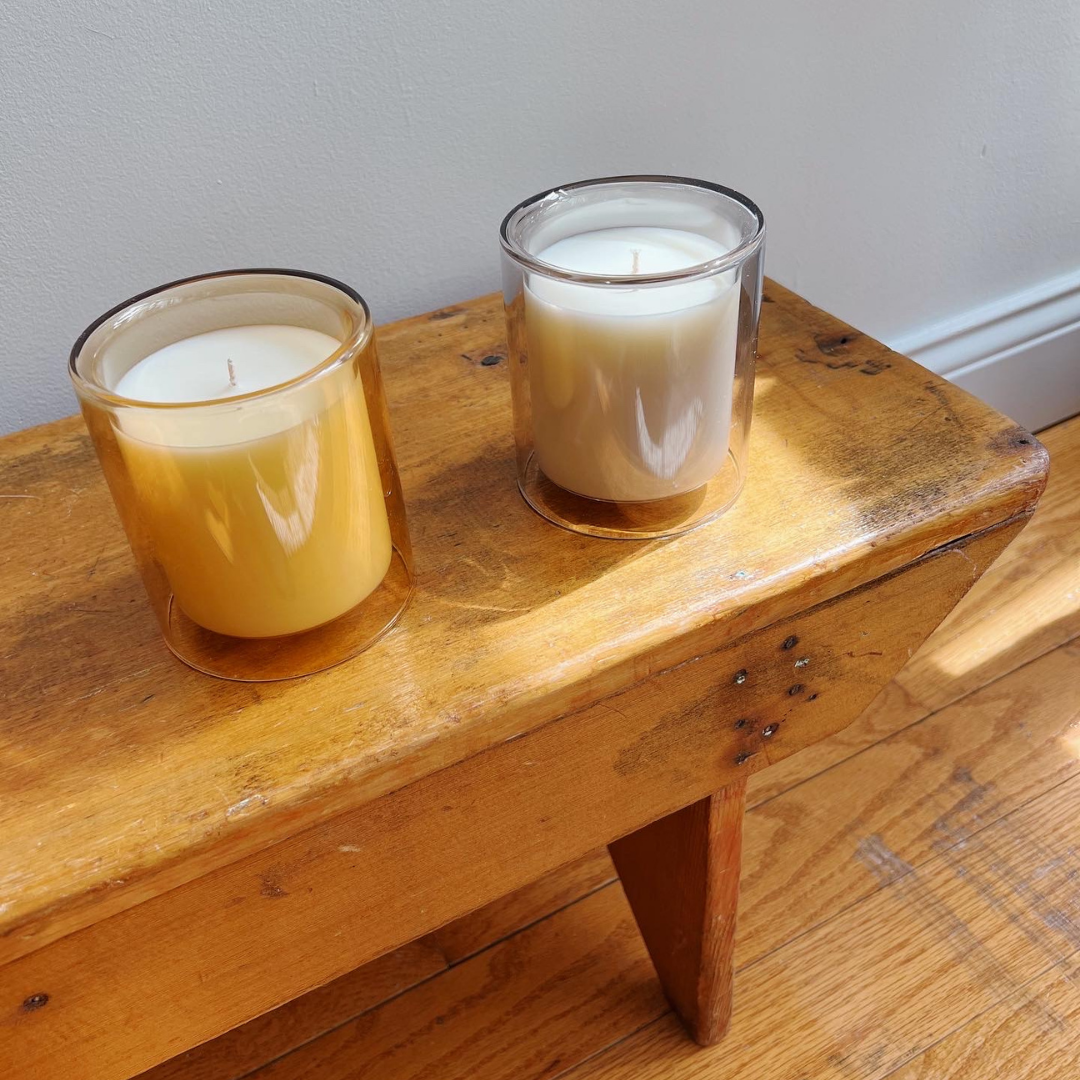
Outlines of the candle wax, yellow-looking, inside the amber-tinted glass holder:
{"label": "candle wax, yellow-looking, inside the amber-tinted glass holder", "polygon": [[[136,363],[113,392],[117,440],[174,603],[207,630],[271,637],[368,596],[391,558],[359,375],[229,403],[289,382],[341,342],[301,326],[199,334]],[[192,408],[139,403],[206,403]]]}

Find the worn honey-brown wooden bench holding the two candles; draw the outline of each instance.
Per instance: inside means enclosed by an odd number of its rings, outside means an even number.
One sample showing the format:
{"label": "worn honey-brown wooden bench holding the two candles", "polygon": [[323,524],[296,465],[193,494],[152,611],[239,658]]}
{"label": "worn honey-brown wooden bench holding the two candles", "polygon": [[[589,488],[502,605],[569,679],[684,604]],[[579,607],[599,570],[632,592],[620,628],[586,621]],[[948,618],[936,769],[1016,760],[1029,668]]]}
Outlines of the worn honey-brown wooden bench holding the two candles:
{"label": "worn honey-brown wooden bench holding the two candles", "polygon": [[174,660],[79,419],[0,440],[0,1064],[126,1078],[611,852],[702,1042],[746,777],[868,704],[1023,528],[1047,456],[773,283],[718,522],[603,541],[515,489],[497,297],[379,335],[418,590],[359,659]]}

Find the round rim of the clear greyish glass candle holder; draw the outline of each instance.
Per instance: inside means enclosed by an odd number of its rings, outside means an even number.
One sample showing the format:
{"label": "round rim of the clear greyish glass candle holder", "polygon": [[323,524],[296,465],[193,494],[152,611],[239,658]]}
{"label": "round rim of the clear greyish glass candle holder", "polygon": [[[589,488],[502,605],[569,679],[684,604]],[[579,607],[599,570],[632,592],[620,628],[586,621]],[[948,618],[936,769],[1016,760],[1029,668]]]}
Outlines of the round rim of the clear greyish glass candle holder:
{"label": "round rim of the clear greyish glass candle holder", "polygon": [[[567,270],[565,267],[558,267],[552,262],[544,262],[543,259],[537,258],[530,252],[527,252],[516,238],[511,238],[511,228],[518,224],[527,211],[531,210],[539,203],[542,203],[544,200],[551,199],[553,195],[562,195],[566,192],[600,187],[605,184],[666,184],[677,187],[699,188],[701,190],[712,192],[713,194],[724,195],[727,199],[739,203],[744,210],[748,211],[753,215],[757,221],[757,228],[751,237],[747,237],[737,246],[732,247],[731,251],[725,252],[724,255],[719,255],[715,259],[710,259],[707,262],[697,262],[693,266],[685,267],[681,270],[666,270],[662,273],[654,274],[598,274],[584,273],[577,270]],[[598,176],[591,180],[577,180],[573,184],[561,184],[554,188],[548,188],[546,191],[541,191],[539,194],[535,194],[523,200],[502,219],[502,225],[499,227],[499,240],[502,244],[502,249],[515,262],[529,270],[534,270],[537,273],[542,273],[548,278],[555,278],[562,281],[573,282],[582,285],[597,286],[631,285],[640,287],[643,285],[664,285],[671,284],[672,282],[696,281],[700,278],[712,278],[714,274],[723,273],[725,270],[731,270],[734,267],[741,266],[761,246],[761,243],[765,240],[765,215],[761,213],[757,203],[744,195],[741,191],[735,191],[734,188],[724,187],[721,184],[713,184],[711,180],[698,180],[689,176],[667,176],[659,173],[630,174],[626,176]]]}

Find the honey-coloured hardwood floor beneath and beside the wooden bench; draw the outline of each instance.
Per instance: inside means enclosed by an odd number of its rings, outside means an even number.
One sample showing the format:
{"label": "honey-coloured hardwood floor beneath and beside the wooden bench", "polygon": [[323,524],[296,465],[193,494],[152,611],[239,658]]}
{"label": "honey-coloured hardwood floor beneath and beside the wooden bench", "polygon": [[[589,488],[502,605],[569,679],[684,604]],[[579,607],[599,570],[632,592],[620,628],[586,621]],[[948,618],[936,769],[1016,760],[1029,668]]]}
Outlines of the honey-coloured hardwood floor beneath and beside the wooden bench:
{"label": "honey-coloured hardwood floor beneath and beside the wooden bench", "polygon": [[604,852],[144,1080],[1080,1074],[1080,418],[1035,519],[848,730],[753,778],[734,1018],[671,1015]]}

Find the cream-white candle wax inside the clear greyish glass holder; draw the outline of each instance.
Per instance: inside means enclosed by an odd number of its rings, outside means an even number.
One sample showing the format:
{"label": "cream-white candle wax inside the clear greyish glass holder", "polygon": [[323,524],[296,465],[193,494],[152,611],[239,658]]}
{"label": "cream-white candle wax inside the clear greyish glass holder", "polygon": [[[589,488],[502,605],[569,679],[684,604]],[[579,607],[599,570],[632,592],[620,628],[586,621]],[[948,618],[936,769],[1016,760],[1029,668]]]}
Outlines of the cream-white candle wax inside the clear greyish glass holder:
{"label": "cream-white candle wax inside the clear greyish glass holder", "polygon": [[[537,258],[579,273],[644,276],[727,251],[694,232],[633,226],[566,237]],[[731,423],[735,273],[640,288],[527,276],[532,435],[544,474],[617,502],[681,495],[716,475]]]}

